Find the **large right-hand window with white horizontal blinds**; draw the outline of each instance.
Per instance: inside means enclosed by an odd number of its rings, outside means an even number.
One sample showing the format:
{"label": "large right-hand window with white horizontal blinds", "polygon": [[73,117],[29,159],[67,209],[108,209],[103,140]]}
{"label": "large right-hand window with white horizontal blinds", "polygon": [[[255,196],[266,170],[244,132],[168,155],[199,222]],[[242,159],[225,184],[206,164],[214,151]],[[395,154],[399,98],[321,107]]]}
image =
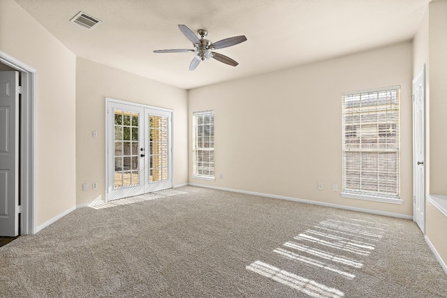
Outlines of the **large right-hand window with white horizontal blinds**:
{"label": "large right-hand window with white horizontal blinds", "polygon": [[343,95],[343,193],[400,200],[400,87]]}

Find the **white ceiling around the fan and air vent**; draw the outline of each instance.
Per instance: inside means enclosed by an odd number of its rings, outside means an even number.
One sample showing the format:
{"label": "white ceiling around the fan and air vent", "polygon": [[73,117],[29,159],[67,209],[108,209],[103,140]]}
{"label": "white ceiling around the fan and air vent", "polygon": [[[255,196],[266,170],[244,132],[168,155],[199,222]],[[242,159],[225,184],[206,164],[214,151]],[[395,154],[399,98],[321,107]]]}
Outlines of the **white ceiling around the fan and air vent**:
{"label": "white ceiling around the fan and air vent", "polygon": [[[413,38],[430,0],[15,0],[78,57],[184,89],[329,59]],[[70,22],[80,11],[102,22]],[[212,42],[245,35],[216,50],[217,60],[188,70],[193,48],[179,31],[207,29]]]}

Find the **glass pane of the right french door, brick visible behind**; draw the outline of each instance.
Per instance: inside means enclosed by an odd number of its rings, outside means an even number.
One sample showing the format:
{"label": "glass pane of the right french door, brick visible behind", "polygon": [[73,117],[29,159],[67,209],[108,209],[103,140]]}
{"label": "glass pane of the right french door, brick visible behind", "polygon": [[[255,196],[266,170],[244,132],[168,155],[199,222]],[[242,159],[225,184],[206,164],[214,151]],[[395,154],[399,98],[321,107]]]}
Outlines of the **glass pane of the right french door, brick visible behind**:
{"label": "glass pane of the right french door, brick visible behind", "polygon": [[168,179],[168,117],[149,115],[149,182]]}

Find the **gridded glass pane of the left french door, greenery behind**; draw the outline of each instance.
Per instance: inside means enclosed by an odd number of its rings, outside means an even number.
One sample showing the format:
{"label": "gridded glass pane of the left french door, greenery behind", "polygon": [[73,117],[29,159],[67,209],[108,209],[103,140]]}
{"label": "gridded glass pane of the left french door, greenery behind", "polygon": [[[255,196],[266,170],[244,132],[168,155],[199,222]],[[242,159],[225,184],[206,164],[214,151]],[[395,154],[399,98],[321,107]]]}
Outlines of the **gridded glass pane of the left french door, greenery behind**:
{"label": "gridded glass pane of the left french door, greenery behind", "polygon": [[140,184],[138,117],[137,112],[115,110],[115,188]]}

